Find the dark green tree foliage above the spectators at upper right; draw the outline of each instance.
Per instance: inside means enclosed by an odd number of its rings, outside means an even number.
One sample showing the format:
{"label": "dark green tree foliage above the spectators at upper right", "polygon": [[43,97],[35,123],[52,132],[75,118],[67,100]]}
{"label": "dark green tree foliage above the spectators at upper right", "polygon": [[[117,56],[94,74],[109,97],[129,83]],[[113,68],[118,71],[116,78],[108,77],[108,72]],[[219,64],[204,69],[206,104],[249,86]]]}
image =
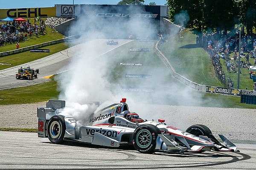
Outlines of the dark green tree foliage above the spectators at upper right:
{"label": "dark green tree foliage above the spectators at upper right", "polygon": [[227,32],[236,24],[247,26],[247,33],[252,34],[256,26],[256,0],[167,0],[170,7],[170,19],[181,11],[186,11],[190,20],[186,27],[209,32]]}

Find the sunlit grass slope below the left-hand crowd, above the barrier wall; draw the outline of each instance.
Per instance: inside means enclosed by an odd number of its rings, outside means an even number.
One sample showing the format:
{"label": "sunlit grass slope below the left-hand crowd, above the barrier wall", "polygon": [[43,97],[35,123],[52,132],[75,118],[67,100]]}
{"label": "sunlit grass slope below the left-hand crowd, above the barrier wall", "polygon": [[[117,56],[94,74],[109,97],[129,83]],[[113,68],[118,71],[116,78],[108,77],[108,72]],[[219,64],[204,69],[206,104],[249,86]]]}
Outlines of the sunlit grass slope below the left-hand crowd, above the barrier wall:
{"label": "sunlit grass slope below the left-hand crowd, above the barrier wall", "polygon": [[[2,22],[0,22],[0,23],[2,23]],[[39,24],[39,21],[37,21],[36,23]],[[46,27],[45,32],[46,33],[44,35],[38,34],[38,37],[36,37],[35,35],[32,35],[32,38],[28,37],[28,40],[26,40],[24,42],[19,42],[20,48],[28,47],[28,46],[36,45],[36,44],[41,44],[43,42],[59,40],[59,39],[62,39],[65,37],[64,35],[58,33],[56,30],[54,30],[48,26]],[[25,35],[25,33],[23,35]],[[0,52],[11,51],[11,50],[15,50],[15,49],[16,49],[16,44],[7,44],[7,45],[0,47]]]}

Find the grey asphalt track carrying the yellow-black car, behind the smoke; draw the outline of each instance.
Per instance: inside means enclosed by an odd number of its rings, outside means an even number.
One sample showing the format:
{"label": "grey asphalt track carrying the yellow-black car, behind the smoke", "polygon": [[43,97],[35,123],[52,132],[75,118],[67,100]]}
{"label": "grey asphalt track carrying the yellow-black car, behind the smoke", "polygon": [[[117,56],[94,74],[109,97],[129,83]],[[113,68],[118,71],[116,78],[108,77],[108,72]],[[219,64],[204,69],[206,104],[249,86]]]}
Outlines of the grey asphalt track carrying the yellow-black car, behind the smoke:
{"label": "grey asphalt track carrying the yellow-black car, behind the smoke", "polygon": [[[86,50],[86,52],[90,53],[93,51],[95,57],[99,57],[102,54],[111,51],[114,48],[119,47],[131,40],[116,40],[118,41],[118,45],[107,45],[107,40],[97,39],[84,42],[83,44],[73,46],[68,48],[64,51],[60,51],[58,53],[49,55],[47,57],[37,59],[32,62],[28,62],[22,65],[17,65],[12,68],[6,68],[0,71],[0,90],[10,89],[10,88],[17,88],[17,87],[24,87],[28,85],[36,85],[41,82],[50,81],[50,79],[45,79],[43,77],[48,77],[54,74],[61,73],[63,71],[67,71],[65,67],[67,63],[70,62],[70,59],[76,56],[77,51]],[[104,48],[97,48],[95,50],[95,44],[99,47]],[[84,49],[84,47],[86,49]],[[35,80],[23,80],[23,79],[16,79],[15,74],[18,71],[18,68],[23,67],[26,68],[30,66],[30,68],[39,69],[40,74],[38,74],[38,79]]]}

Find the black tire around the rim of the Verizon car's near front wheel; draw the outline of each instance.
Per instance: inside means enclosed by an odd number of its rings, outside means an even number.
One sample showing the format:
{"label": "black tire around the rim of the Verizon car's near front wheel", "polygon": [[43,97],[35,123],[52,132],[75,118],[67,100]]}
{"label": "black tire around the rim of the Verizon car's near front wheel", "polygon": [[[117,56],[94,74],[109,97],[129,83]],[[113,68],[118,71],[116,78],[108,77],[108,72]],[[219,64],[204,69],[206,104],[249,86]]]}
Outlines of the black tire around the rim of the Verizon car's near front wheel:
{"label": "black tire around the rim of the Verizon car's near front wheel", "polygon": [[[141,133],[142,132],[141,130],[145,130],[145,132],[150,133],[151,142],[147,147],[140,147],[137,144],[137,137],[139,135],[138,133]],[[134,148],[141,153],[154,153],[154,149],[156,147],[156,139],[157,139],[158,134],[160,134],[160,130],[157,127],[155,127],[154,125],[149,125],[149,124],[140,125],[139,127],[137,127],[134,130],[134,133],[133,133],[133,142],[132,143],[134,145]]]}

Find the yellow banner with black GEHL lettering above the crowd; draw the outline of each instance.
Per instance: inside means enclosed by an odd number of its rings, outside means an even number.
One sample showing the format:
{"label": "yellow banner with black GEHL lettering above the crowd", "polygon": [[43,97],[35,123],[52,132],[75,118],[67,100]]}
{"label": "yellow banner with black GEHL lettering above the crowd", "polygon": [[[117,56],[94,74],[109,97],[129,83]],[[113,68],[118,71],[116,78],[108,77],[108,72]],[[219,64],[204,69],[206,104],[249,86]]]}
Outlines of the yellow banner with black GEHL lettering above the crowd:
{"label": "yellow banner with black GEHL lettering above the crowd", "polygon": [[0,20],[10,18],[55,17],[56,7],[0,9]]}

